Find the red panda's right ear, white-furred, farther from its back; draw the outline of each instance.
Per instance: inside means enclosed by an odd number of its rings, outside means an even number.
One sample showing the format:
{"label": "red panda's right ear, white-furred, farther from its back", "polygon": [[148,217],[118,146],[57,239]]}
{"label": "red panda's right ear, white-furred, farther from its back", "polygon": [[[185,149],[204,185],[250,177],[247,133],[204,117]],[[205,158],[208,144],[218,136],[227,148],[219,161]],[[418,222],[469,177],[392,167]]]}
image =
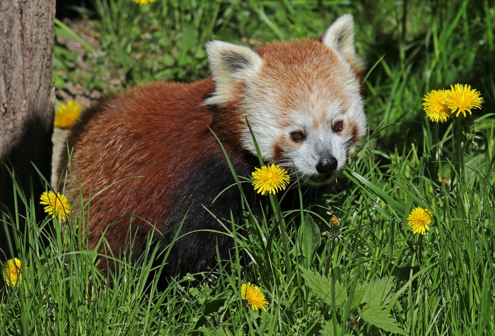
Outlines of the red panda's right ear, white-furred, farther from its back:
{"label": "red panda's right ear, white-furred, farther from its back", "polygon": [[354,20],[344,14],[333,22],[322,36],[322,43],[340,54],[356,72],[364,70],[363,61],[356,55],[354,47]]}

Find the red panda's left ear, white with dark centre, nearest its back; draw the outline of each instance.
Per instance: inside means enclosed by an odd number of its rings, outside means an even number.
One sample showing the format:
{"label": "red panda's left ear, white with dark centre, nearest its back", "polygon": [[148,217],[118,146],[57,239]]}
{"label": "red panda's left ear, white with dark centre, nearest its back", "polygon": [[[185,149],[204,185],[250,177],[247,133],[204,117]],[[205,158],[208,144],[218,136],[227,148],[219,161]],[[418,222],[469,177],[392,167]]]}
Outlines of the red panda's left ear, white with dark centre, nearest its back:
{"label": "red panda's left ear, white with dark centre, nearest its back", "polygon": [[235,84],[253,77],[263,63],[253,50],[227,42],[210,41],[206,44],[206,52],[216,88],[205,104],[223,104],[231,100]]}

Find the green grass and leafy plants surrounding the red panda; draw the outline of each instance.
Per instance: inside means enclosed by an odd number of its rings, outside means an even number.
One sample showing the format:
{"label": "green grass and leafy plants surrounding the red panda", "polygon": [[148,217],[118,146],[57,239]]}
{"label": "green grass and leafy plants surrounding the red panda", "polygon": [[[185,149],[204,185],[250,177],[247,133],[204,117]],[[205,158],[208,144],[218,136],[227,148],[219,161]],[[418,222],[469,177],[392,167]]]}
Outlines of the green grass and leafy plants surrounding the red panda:
{"label": "green grass and leafy plants surrounding the red panda", "polygon": [[[20,286],[0,285],[0,334],[495,333],[494,5],[320,2],[157,0],[140,7],[95,0],[96,14],[81,9],[106,55],[95,72],[123,69],[126,85],[208,75],[203,46],[213,38],[252,46],[312,38],[338,15],[353,13],[358,52],[370,69],[364,84],[370,130],[338,185],[317,204],[296,199],[280,216],[273,198],[264,218],[223,223],[235,241],[231,260],[200,283],[185,277],[163,290],[155,288],[151,260],[166,263],[166,251],[151,249],[137,266],[121,261],[110,285],[94,266],[96,253],[84,247],[83,214],[62,230],[34,218],[39,195],[16,190],[20,210],[4,214],[2,224],[20,227],[19,214],[28,214],[26,228],[12,237],[28,270]],[[91,74],[70,74],[64,67],[70,57],[55,48],[55,70],[64,74],[55,80],[103,85]],[[454,83],[481,91],[482,112],[473,110],[462,124],[430,123],[422,97]],[[424,236],[406,224],[418,206],[434,215]],[[340,218],[338,239],[332,214]],[[241,300],[247,281],[266,293],[267,312]]]}

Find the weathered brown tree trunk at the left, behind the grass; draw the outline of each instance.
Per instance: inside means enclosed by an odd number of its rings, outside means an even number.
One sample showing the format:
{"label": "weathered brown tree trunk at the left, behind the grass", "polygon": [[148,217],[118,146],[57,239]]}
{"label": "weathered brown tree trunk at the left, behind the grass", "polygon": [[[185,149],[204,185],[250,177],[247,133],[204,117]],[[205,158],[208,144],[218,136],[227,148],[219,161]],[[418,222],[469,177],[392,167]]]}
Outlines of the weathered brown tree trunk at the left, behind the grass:
{"label": "weathered brown tree trunk at the left, behind the grass", "polygon": [[[50,181],[54,18],[55,0],[0,0],[0,210],[12,215],[12,179],[6,166],[13,168],[28,198],[33,191],[37,205],[45,184],[33,164]],[[24,206],[19,208],[21,212]],[[0,250],[7,253],[3,226]]]}

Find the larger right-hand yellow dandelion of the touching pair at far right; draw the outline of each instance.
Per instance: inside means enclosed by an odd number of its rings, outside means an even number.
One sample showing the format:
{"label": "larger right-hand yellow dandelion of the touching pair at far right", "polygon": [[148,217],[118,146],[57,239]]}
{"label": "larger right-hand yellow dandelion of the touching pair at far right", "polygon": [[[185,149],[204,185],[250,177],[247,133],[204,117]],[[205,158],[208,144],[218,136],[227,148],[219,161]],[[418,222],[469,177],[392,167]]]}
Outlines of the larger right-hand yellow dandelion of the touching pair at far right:
{"label": "larger right-hand yellow dandelion of the touching pair at far right", "polygon": [[479,91],[471,89],[471,85],[450,85],[450,90],[446,92],[445,103],[452,113],[457,111],[455,116],[459,116],[462,113],[465,117],[466,111],[471,114],[471,109],[481,109],[481,104],[484,101],[480,95]]}

